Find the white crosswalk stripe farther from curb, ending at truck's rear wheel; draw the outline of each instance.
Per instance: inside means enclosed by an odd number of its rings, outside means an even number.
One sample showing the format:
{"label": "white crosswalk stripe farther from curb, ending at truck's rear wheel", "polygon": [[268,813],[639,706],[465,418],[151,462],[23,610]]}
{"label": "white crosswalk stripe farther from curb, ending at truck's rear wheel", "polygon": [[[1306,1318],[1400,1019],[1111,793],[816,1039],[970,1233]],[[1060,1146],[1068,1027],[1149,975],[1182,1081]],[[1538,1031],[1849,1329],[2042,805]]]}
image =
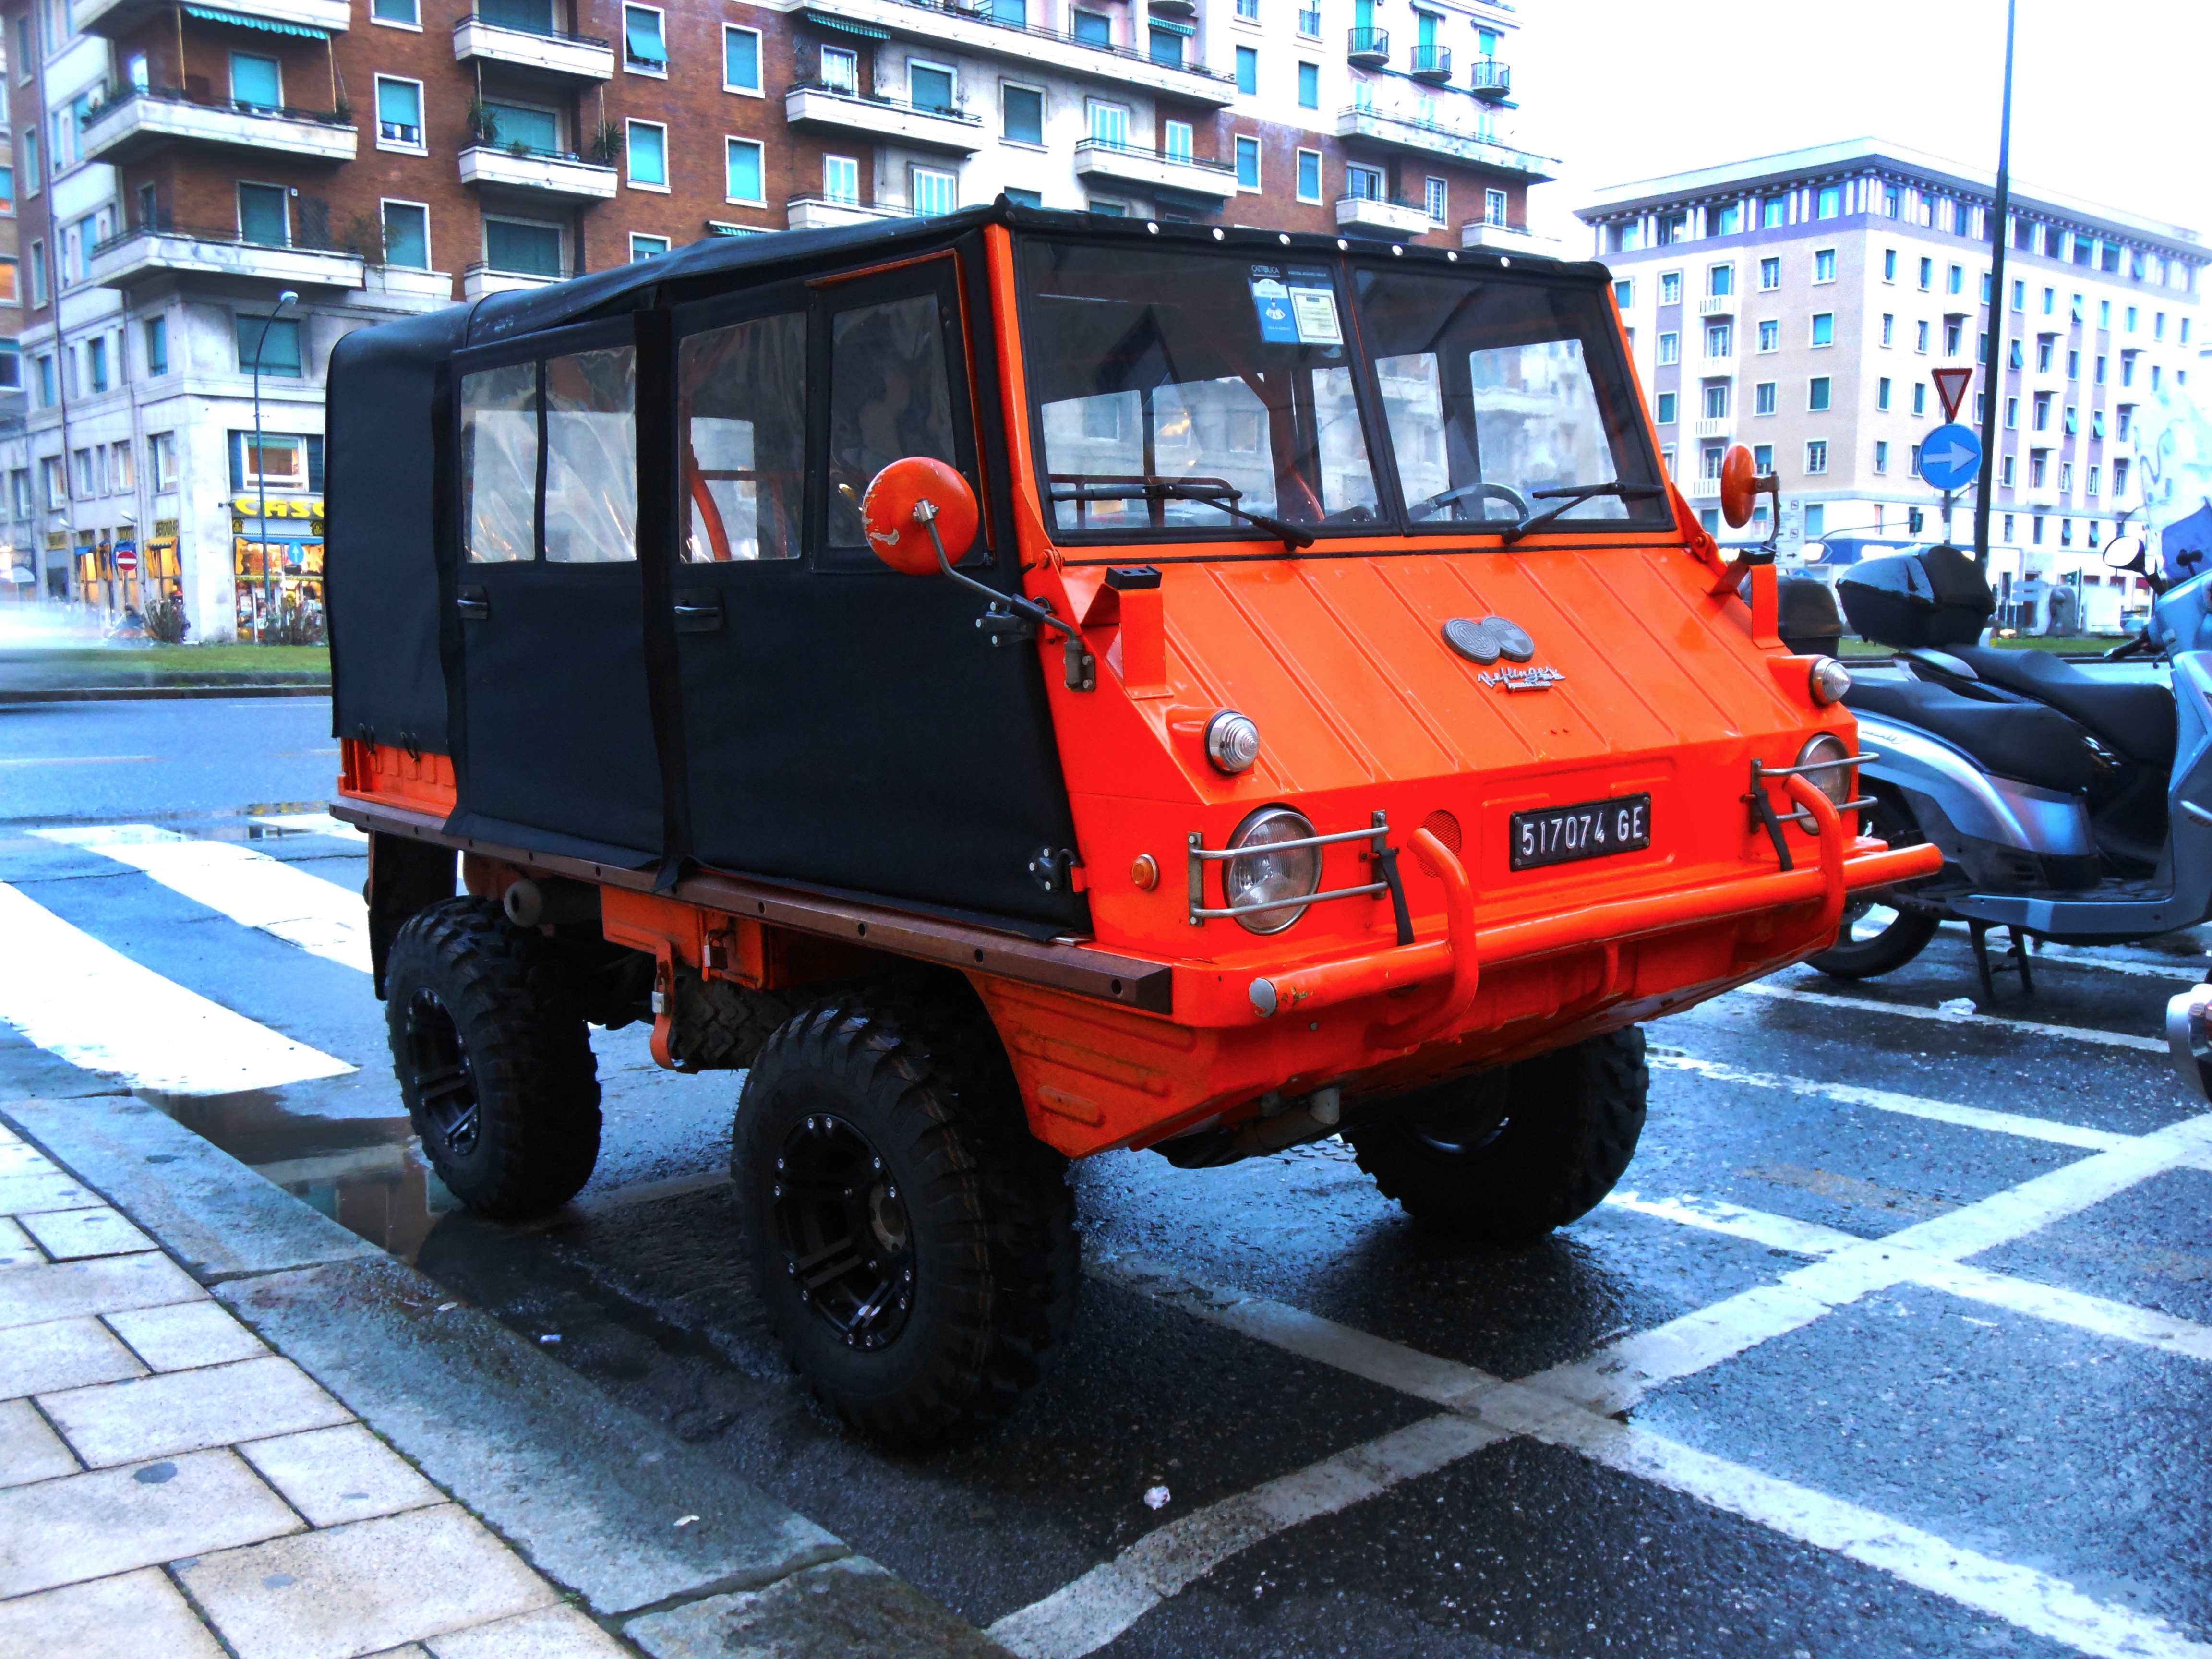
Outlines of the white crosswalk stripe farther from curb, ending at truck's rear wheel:
{"label": "white crosswalk stripe farther from curb, ending at truck's rear wheel", "polygon": [[354,894],[237,841],[192,841],[150,823],[33,830],[42,841],[84,847],[144,869],[195,905],[221,911],[310,956],[369,971],[369,916]]}

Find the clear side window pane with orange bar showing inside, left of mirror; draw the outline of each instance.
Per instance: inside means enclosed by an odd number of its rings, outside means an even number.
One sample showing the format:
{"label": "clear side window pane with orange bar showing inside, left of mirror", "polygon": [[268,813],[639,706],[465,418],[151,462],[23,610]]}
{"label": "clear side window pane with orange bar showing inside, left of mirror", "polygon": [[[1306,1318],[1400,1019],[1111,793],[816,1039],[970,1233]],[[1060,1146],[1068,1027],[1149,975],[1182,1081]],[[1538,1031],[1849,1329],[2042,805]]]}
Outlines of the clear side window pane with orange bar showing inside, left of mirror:
{"label": "clear side window pane with orange bar showing inside, left of mirror", "polygon": [[807,480],[807,319],[759,316],[677,347],[684,557],[796,560]]}

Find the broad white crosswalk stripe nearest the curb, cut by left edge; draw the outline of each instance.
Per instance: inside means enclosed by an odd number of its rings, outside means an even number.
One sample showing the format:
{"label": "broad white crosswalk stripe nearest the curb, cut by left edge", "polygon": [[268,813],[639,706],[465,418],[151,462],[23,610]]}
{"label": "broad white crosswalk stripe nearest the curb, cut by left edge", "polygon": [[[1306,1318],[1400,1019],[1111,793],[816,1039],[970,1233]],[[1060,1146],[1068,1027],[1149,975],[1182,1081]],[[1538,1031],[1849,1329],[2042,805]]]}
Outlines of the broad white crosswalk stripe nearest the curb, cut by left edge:
{"label": "broad white crosswalk stripe nearest the curb, cut by left edge", "polygon": [[133,962],[0,883],[0,1020],[135,1088],[228,1095],[354,1071]]}

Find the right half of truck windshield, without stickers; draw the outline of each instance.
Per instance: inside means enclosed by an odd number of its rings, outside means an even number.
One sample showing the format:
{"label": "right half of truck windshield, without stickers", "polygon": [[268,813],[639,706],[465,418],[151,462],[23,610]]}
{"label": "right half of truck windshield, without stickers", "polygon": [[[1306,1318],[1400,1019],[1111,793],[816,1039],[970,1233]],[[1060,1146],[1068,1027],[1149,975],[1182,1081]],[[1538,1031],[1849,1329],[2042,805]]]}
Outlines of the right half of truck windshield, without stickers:
{"label": "right half of truck windshield, without stickers", "polygon": [[[1590,288],[1411,270],[1356,274],[1413,526],[1511,524],[1593,484],[1659,484]],[[1571,500],[1557,529],[1672,522],[1663,493]]]}

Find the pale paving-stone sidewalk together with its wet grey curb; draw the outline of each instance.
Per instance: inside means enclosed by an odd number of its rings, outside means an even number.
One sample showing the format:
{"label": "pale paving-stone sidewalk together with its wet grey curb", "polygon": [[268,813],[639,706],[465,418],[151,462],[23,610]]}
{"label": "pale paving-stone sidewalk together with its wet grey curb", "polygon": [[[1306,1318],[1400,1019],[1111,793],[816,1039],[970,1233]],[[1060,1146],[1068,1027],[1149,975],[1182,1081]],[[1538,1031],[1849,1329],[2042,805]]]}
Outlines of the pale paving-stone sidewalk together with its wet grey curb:
{"label": "pale paving-stone sidewalk together with its wet grey curb", "polygon": [[[46,1117],[24,1108],[44,1108]],[[210,1248],[206,1214],[221,1212],[221,1203],[199,1201],[210,1183],[226,1188],[232,1208],[268,1210],[268,1199],[221,1168],[230,1164],[221,1152],[137,1102],[15,1102],[0,1115],[82,1126],[93,1164],[122,1141],[177,1148],[131,1152],[139,1166],[188,1166],[181,1192],[139,1186],[133,1208],[155,1232],[164,1232],[164,1217],[195,1210],[201,1232],[188,1243],[197,1252]],[[230,1168],[259,1183],[243,1166]],[[314,1228],[305,1232],[314,1237]],[[697,1471],[692,1489],[703,1513],[688,1517],[670,1517],[672,1504],[659,1502],[657,1489],[639,1500],[622,1469],[595,1478],[588,1453],[573,1473],[584,1491],[604,1486],[611,1498],[602,1513],[582,1517],[582,1528],[573,1515],[546,1517],[526,1498],[502,1502],[507,1489],[546,1484],[529,1473],[538,1455],[529,1431],[515,1429],[507,1436],[513,1444],[489,1451],[482,1442],[500,1433],[478,1431],[473,1451],[460,1453],[422,1429],[425,1413],[400,1409],[403,1398],[387,1387],[392,1374],[420,1376],[431,1400],[440,1389],[469,1389],[471,1378],[434,1376],[438,1356],[420,1345],[409,1352],[409,1327],[394,1325],[394,1307],[411,1307],[416,1290],[436,1287],[383,1256],[358,1259],[358,1241],[338,1237],[347,1245],[323,1241],[336,1245],[336,1263],[226,1281],[219,1267],[230,1256],[217,1250],[210,1272],[206,1259],[184,1254],[195,1276],[161,1248],[164,1239],[0,1126],[0,1655],[1000,1652],[810,1522],[752,1489],[721,1491]],[[394,1287],[400,1276],[414,1283]],[[221,1296],[201,1279],[212,1279]],[[257,1318],[254,1307],[268,1310],[263,1329],[299,1332],[307,1365],[356,1402],[369,1400],[369,1420],[272,1349],[226,1301],[248,1318]],[[491,1400],[491,1409],[502,1409],[504,1398],[509,1411],[515,1398],[522,1411],[542,1411],[544,1398],[582,1400],[573,1389],[584,1385],[500,1327],[491,1334],[465,1332],[462,1345],[487,1365],[476,1398]],[[495,1338],[507,1338],[504,1352]],[[276,1340],[290,1345],[288,1336]],[[378,1347],[394,1349],[389,1365],[363,1354]],[[518,1369],[538,1394],[513,1396]],[[604,1420],[588,1427],[593,1440],[628,1438],[619,1455],[653,1467],[657,1480],[670,1455],[681,1462],[675,1442],[664,1453],[648,1444],[650,1433],[637,1438],[650,1429],[641,1420],[635,1431],[615,1422],[615,1436],[602,1433]],[[560,1436],[562,1425],[551,1433]],[[427,1469],[447,1473],[447,1486]],[[557,1482],[551,1498],[562,1511],[580,1502]],[[582,1502],[588,1506],[588,1495]],[[650,1537],[628,1537],[644,1528]],[[686,1531],[721,1537],[690,1548],[668,1542]]]}

